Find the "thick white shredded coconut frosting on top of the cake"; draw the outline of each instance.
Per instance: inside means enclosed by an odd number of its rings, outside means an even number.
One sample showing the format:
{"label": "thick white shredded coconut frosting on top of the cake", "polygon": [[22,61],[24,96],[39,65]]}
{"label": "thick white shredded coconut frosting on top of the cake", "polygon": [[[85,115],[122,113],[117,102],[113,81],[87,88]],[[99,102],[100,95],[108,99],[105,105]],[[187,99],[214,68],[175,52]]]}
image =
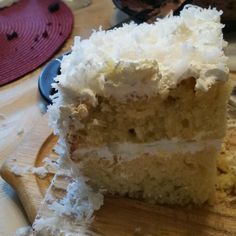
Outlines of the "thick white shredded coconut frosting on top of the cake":
{"label": "thick white shredded coconut frosting on top of the cake", "polygon": [[130,23],[93,32],[89,39],[76,37],[56,78],[58,101],[79,98],[96,106],[96,95],[124,101],[156,93],[166,96],[189,77],[196,78],[196,90],[207,91],[228,78],[221,14],[188,5],[180,16],[154,24]]}

